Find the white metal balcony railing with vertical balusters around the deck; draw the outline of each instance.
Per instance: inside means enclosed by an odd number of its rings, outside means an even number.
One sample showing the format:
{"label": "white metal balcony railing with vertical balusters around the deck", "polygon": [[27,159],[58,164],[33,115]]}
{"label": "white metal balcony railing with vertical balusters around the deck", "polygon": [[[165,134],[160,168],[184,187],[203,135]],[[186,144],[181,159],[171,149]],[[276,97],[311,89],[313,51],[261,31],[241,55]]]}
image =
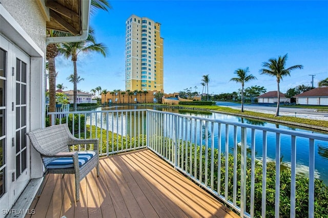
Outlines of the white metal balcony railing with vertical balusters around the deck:
{"label": "white metal balcony railing with vertical balusters around the deck", "polygon": [[[68,113],[49,114],[56,116]],[[274,216],[281,215],[279,215],[281,206],[289,207],[290,217],[298,216],[296,212],[298,156],[296,154],[298,147],[307,146],[309,161],[306,171],[308,173],[305,173],[305,176],[303,173],[303,177],[309,178],[306,210],[309,217],[314,217],[317,156],[315,145],[317,142],[328,143],[327,135],[154,110],[89,111],[70,112],[70,114],[74,114],[72,120],[66,116],[60,118],[59,123],[69,123],[76,137],[99,138],[101,155],[108,156],[147,147],[230,205],[242,214],[242,217],[267,215],[268,201],[273,201],[272,193],[267,193],[268,175],[272,175],[272,171],[275,176],[269,179],[275,180]],[[302,140],[301,145],[299,145],[300,140]],[[289,184],[282,184],[281,181],[282,168],[286,168],[281,161],[282,147],[290,149]],[[83,149],[83,146],[78,149]],[[269,152],[273,152],[275,158],[270,158]],[[271,163],[274,163],[274,170],[268,171]],[[261,167],[260,180],[256,176],[256,169],[259,166]],[[291,187],[289,202],[282,203],[280,200],[280,195],[283,194],[282,185]],[[255,187],[261,187],[261,190]],[[261,202],[260,205],[256,204],[258,201]]]}

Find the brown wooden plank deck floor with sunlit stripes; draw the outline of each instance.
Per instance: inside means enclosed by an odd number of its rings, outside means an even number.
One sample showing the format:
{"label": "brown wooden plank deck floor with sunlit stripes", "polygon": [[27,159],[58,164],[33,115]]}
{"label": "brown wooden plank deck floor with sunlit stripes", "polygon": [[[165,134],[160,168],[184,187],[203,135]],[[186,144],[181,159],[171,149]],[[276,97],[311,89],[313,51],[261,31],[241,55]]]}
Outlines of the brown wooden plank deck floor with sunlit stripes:
{"label": "brown wooden plank deck floor with sunlit stripes", "polygon": [[32,217],[238,217],[149,149],[101,158],[77,203],[73,175],[46,180]]}

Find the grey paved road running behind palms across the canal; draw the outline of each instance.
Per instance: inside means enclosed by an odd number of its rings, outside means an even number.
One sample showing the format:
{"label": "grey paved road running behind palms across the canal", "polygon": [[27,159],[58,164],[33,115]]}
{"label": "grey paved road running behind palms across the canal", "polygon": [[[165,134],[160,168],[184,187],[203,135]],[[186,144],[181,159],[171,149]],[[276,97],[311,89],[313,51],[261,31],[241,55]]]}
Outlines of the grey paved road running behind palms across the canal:
{"label": "grey paved road running behind palms across the canal", "polygon": [[[228,106],[228,107],[237,107],[240,108],[241,104],[233,103],[233,102],[224,102],[224,101],[217,101],[216,105],[219,106]],[[276,106],[263,106],[259,104],[244,104],[244,110],[261,110],[261,111],[276,111]],[[305,115],[317,115],[317,116],[323,116],[328,117],[328,112],[317,112],[314,108],[302,108],[302,107],[280,107],[279,112],[285,112],[285,113],[294,113],[297,114],[305,114]]]}

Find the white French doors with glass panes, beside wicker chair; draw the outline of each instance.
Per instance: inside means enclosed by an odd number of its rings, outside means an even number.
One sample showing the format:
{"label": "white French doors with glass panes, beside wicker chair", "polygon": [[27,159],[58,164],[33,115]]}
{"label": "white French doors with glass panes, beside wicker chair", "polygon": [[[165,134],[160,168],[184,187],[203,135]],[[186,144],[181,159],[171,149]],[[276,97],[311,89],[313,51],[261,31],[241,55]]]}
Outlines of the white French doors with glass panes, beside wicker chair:
{"label": "white French doors with glass panes, beside wicker chair", "polygon": [[28,55],[0,35],[0,209],[10,209],[30,180],[29,63]]}

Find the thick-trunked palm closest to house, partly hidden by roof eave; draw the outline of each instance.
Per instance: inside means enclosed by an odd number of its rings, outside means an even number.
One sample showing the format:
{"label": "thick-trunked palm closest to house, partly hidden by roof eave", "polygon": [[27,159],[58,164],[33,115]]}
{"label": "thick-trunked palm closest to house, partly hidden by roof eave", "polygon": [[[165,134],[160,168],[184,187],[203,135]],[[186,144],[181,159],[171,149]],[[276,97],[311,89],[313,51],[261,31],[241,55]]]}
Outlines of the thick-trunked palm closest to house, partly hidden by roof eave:
{"label": "thick-trunked palm closest to house, partly hidden by roof eave", "polygon": [[[95,9],[101,9],[108,11],[111,9],[111,5],[107,0],[91,0],[91,12]],[[60,37],[68,36],[68,33],[59,32],[55,30],[46,30],[47,37]],[[58,55],[57,47],[59,45],[51,43],[46,48],[46,59],[48,60],[49,69],[49,112],[56,111],[56,68],[55,68],[55,57]]]}

